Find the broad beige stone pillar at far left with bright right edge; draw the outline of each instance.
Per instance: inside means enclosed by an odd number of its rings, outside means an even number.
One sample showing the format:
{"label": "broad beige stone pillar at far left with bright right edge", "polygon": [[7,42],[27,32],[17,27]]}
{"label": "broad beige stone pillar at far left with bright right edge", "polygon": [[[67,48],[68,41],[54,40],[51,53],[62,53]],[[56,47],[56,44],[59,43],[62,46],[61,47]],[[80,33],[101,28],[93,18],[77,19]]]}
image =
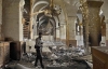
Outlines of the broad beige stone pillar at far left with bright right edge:
{"label": "broad beige stone pillar at far left with bright right edge", "polygon": [[10,38],[14,41],[23,40],[19,1],[21,0],[2,0],[2,32],[5,38]]}

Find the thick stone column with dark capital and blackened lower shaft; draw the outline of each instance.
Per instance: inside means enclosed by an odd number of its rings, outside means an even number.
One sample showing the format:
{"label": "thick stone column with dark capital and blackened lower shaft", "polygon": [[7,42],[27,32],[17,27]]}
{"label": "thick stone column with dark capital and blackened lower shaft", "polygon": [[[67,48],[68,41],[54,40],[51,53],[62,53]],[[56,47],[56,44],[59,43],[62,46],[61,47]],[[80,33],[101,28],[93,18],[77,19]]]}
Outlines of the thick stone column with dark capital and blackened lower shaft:
{"label": "thick stone column with dark capital and blackened lower shaft", "polygon": [[99,46],[102,40],[99,11],[103,1],[86,1],[89,8],[89,40],[91,46]]}

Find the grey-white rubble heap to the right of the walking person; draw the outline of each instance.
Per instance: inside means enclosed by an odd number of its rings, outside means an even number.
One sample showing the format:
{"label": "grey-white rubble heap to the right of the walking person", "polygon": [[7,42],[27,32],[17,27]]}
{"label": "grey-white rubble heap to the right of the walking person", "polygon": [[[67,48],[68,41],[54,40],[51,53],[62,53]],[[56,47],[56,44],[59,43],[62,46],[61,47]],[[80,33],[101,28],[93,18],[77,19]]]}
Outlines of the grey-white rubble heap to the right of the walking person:
{"label": "grey-white rubble heap to the right of the walking person", "polygon": [[84,56],[84,47],[69,47],[65,49],[64,46],[50,46],[52,52],[52,57],[48,56],[51,64],[48,64],[48,68],[58,67],[60,69],[91,69],[86,60],[80,59],[79,57]]}

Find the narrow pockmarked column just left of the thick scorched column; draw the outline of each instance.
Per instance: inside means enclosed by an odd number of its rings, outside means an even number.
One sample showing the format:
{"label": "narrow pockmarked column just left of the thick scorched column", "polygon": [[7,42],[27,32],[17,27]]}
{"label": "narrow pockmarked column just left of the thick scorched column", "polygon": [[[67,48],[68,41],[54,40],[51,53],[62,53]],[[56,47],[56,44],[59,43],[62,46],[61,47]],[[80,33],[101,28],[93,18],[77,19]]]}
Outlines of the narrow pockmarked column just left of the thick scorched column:
{"label": "narrow pockmarked column just left of the thick scorched column", "polygon": [[82,11],[82,25],[83,25],[83,43],[85,47],[85,54],[89,54],[89,9],[87,4],[84,0],[80,0],[82,6],[80,6]]}

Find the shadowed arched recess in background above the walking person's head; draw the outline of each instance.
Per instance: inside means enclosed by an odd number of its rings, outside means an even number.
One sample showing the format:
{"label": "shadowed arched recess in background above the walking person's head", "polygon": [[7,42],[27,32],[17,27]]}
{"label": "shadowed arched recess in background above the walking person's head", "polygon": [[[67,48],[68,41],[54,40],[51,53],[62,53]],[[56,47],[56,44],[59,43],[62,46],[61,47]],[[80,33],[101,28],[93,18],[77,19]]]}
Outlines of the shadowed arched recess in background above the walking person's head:
{"label": "shadowed arched recess in background above the walking person's head", "polygon": [[54,17],[50,17],[44,15],[44,13],[40,13],[37,15],[37,34],[42,32],[43,36],[52,36],[52,40],[56,38],[56,22]]}

